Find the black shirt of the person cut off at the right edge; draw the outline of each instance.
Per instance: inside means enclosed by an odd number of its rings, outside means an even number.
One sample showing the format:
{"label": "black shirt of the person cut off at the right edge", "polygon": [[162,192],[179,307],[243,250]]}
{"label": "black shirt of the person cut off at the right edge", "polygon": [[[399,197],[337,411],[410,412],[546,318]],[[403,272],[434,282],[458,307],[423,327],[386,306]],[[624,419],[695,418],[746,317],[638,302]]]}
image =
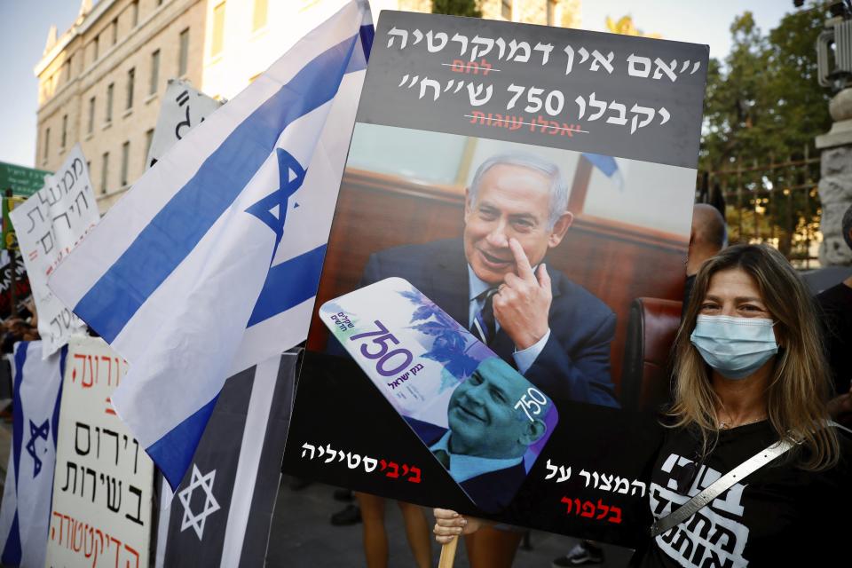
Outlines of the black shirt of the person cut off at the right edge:
{"label": "black shirt of the person cut off at the right edge", "polygon": [[852,382],[852,288],[843,282],[817,295],[822,309],[825,349],[832,367],[837,394],[849,391]]}

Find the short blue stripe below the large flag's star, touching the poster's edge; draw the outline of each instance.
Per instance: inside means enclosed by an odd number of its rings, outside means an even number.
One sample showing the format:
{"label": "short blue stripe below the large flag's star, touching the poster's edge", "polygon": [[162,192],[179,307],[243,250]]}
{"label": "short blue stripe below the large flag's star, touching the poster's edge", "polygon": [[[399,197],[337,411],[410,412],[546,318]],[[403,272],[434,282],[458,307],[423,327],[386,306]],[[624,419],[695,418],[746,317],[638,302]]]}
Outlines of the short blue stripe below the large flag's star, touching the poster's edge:
{"label": "short blue stripe below the large flag's star, touching the poster's edge", "polygon": [[320,245],[304,255],[295,256],[269,269],[264,289],[257,297],[255,309],[248,319],[248,326],[270,319],[279,313],[302,304],[317,295],[322,260],[326,256],[326,245]]}

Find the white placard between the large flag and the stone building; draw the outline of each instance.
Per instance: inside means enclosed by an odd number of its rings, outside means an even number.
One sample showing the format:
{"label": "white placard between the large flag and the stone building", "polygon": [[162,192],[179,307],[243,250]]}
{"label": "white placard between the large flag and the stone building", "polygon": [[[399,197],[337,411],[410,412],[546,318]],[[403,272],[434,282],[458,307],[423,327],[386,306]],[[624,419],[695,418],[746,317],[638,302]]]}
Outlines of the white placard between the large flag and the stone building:
{"label": "white placard between the large flag and the stone building", "polygon": [[219,106],[222,106],[221,102],[196,91],[189,83],[170,79],[166,94],[162,97],[160,115],[157,117],[151,147],[148,148],[146,166],[153,166],[171,146],[201,124],[204,118]]}

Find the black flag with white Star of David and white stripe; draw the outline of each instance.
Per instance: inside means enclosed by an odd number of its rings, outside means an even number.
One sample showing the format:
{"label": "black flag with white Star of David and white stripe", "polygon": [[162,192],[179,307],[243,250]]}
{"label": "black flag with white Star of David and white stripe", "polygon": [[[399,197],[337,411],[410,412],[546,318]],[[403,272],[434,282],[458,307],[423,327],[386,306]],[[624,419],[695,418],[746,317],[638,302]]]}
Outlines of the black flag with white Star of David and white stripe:
{"label": "black flag with white Star of David and white stripe", "polygon": [[157,568],[264,565],[296,359],[288,352],[225,382],[174,499],[163,484]]}

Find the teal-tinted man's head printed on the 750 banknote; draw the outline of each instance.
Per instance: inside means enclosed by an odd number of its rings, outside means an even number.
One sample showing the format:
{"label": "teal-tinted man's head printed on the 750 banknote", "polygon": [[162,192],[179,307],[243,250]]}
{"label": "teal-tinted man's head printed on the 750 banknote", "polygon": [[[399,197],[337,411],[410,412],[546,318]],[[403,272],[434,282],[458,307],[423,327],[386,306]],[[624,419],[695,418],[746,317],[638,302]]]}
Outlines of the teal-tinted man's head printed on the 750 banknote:
{"label": "teal-tinted man's head printed on the 750 banknote", "polygon": [[531,386],[501,359],[485,359],[450,397],[450,450],[493,459],[524,455],[547,433],[544,416],[550,406],[549,401],[540,405],[538,414],[533,406],[533,420],[522,406],[516,408],[525,395],[525,399],[530,398],[527,390]]}

